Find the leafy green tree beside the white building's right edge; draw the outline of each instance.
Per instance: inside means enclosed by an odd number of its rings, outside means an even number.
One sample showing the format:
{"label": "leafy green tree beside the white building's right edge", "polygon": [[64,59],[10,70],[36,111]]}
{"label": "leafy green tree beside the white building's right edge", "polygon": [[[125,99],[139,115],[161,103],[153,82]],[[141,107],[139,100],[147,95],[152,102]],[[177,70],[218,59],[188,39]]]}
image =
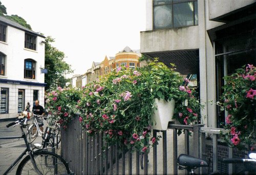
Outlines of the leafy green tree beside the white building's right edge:
{"label": "leafy green tree beside the white building's right edge", "polygon": [[69,79],[65,74],[72,73],[71,65],[65,62],[65,53],[59,51],[51,45],[54,39],[51,36],[46,37],[45,44],[45,68],[48,73],[45,74],[46,91],[56,90],[57,86],[64,87]]}

